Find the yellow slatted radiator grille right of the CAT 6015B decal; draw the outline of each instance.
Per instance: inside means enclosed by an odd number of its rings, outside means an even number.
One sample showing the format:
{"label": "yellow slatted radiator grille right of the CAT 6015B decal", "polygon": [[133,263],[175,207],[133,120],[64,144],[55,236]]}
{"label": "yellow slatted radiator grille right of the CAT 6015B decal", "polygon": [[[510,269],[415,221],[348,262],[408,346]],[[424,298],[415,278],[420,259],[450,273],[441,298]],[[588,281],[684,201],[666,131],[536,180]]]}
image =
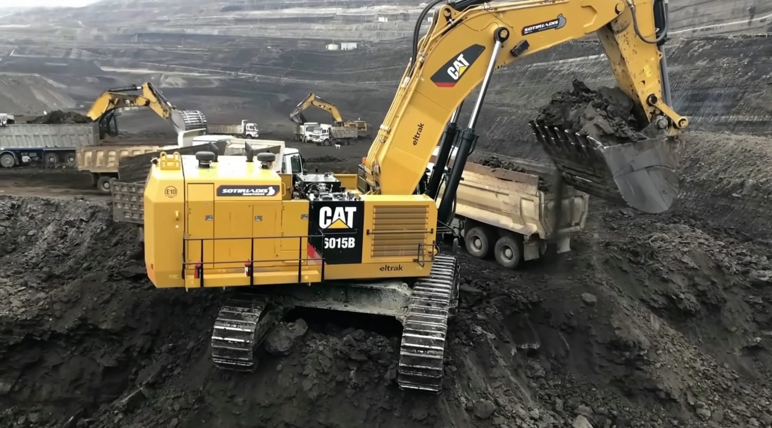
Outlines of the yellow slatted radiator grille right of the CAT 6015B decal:
{"label": "yellow slatted radiator grille right of the CAT 6015B decal", "polygon": [[372,257],[418,256],[428,236],[428,206],[374,206]]}

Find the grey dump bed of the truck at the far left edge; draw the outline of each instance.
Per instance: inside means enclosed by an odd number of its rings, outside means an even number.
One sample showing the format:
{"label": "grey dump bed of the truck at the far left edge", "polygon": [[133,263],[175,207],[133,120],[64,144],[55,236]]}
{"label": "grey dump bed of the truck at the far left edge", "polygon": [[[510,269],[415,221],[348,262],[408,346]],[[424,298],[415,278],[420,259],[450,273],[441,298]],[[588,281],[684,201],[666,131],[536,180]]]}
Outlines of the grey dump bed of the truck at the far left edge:
{"label": "grey dump bed of the truck at the far left edge", "polygon": [[0,148],[78,148],[97,144],[99,124],[9,124],[0,127]]}

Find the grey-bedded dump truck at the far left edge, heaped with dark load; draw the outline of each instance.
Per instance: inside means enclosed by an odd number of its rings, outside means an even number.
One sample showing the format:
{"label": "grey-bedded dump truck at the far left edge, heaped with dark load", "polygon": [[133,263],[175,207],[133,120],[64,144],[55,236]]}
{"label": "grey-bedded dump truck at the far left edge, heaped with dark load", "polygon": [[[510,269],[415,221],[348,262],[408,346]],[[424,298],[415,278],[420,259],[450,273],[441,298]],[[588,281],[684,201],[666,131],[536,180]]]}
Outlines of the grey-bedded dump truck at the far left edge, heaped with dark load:
{"label": "grey-bedded dump truck at the far left edge, heaped with dark load", "polygon": [[76,149],[99,143],[99,124],[16,124],[0,126],[0,165],[13,168],[34,161],[75,165]]}

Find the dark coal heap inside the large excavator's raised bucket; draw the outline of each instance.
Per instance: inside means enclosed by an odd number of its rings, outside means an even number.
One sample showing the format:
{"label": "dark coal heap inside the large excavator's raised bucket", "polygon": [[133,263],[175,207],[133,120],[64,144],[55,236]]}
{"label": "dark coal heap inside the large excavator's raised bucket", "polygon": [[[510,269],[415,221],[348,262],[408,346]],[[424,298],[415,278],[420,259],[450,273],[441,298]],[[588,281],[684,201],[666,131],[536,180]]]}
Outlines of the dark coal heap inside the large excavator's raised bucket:
{"label": "dark coal heap inside the large excavator's raised bucket", "polygon": [[647,138],[640,132],[643,127],[635,117],[635,104],[621,89],[591,90],[580,80],[574,80],[572,87],[553,95],[550,104],[541,109],[537,124],[589,135],[608,144]]}

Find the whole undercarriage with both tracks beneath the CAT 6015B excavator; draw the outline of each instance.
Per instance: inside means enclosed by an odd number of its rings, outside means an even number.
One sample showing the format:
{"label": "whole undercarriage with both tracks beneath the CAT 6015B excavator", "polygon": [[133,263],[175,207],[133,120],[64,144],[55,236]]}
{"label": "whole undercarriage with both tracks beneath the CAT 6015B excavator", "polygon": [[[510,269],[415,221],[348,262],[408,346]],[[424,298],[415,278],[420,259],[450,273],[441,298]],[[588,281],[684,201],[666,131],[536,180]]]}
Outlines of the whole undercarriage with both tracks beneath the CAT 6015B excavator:
{"label": "whole undercarriage with both tracks beneath the CAT 6015B excavator", "polygon": [[[398,385],[439,392],[448,320],[458,306],[455,256],[436,256],[428,277],[402,281],[328,282],[256,287],[226,301],[212,331],[212,361],[220,369],[254,372],[256,349],[293,307],[315,307],[397,318],[403,326]],[[246,290],[245,290],[246,291]]]}

